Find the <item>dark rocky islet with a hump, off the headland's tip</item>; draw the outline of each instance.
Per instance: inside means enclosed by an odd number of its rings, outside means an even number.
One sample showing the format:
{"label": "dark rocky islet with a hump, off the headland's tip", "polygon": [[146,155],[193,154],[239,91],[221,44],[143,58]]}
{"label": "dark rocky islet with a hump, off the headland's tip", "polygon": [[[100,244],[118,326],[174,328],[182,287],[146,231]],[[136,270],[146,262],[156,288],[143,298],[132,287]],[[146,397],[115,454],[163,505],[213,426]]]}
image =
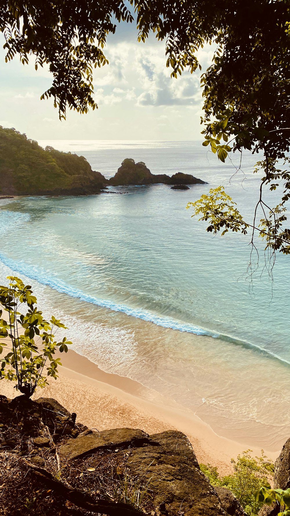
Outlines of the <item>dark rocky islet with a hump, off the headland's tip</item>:
{"label": "dark rocky islet with a hump, off the headland's tip", "polygon": [[178,172],[170,178],[167,174],[152,174],[143,163],[135,163],[134,159],[126,158],[118,168],[114,178],[110,178],[109,184],[113,186],[124,185],[152,185],[163,183],[166,185],[207,184],[191,174]]}

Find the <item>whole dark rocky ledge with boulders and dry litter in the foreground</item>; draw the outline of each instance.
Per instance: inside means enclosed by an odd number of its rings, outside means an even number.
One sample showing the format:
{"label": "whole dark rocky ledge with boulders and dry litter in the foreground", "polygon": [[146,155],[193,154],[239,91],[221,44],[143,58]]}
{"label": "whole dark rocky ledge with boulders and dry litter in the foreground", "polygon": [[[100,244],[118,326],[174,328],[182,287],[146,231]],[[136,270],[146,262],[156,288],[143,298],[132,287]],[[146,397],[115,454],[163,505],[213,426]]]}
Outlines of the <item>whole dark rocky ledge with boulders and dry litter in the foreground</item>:
{"label": "whole dark rocky ledge with boulders and dry litter in the foreground", "polygon": [[33,516],[246,516],[232,493],[210,484],[176,430],[99,432],[52,398],[0,396],[0,447],[0,512],[7,516],[28,514],[31,501]]}

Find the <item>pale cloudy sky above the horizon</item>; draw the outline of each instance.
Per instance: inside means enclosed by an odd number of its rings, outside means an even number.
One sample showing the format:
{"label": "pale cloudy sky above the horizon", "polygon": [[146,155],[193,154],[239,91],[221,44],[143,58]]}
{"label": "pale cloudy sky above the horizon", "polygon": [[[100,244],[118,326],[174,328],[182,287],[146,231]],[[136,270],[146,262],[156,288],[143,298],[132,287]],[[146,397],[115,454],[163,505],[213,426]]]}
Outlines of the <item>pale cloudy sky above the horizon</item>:
{"label": "pale cloudy sky above the horizon", "polygon": [[[2,38],[2,39],[1,39]],[[94,72],[94,100],[98,109],[88,114],[67,112],[59,121],[53,100],[40,101],[52,84],[48,69],[35,70],[35,58],[23,66],[19,57],[5,63],[0,35],[0,125],[15,127],[27,137],[41,139],[201,139],[201,72],[170,78],[165,42],[154,36],[137,42],[134,24],[121,23],[107,40],[109,65]],[[211,64],[211,47],[201,50],[202,71]]]}

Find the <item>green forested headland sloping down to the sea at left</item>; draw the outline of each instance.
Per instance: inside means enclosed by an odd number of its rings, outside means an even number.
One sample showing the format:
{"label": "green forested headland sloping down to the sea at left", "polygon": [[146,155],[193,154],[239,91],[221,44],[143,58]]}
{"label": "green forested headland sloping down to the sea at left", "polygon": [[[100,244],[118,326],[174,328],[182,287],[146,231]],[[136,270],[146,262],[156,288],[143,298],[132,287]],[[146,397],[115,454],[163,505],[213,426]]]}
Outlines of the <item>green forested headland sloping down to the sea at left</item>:
{"label": "green forested headland sloping down to the sea at left", "polygon": [[2,195],[98,193],[105,183],[83,156],[42,149],[15,129],[0,126],[0,193]]}

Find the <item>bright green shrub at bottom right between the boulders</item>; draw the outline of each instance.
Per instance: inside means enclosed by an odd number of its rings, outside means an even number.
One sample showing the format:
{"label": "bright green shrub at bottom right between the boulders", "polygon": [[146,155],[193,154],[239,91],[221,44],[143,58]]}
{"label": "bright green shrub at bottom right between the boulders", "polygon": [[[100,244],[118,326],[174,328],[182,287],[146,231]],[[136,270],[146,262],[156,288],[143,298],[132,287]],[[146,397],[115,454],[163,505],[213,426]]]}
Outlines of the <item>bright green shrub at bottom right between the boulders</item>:
{"label": "bright green shrub at bottom right between the boulders", "polygon": [[234,473],[220,477],[216,467],[210,464],[200,464],[201,471],[210,479],[213,486],[230,489],[237,497],[241,506],[249,516],[257,514],[262,502],[256,499],[256,492],[268,484],[269,476],[273,475],[273,464],[261,450],[261,457],[252,457],[252,450],[243,451],[237,459],[232,459]]}

